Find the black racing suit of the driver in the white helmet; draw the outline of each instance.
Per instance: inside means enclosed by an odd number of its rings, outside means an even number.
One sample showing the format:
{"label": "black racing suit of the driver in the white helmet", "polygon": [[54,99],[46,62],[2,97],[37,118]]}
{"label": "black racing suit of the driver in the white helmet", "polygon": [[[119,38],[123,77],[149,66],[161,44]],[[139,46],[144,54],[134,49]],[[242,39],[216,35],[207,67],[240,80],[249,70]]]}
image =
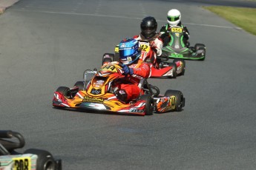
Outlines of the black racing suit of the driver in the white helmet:
{"label": "black racing suit of the driver in the white helmet", "polygon": [[[186,44],[186,47],[189,47],[189,42],[188,42],[188,38],[189,38],[189,32],[188,32],[188,28],[185,27],[183,24],[181,24],[181,22],[179,22],[177,24],[177,26],[182,27],[183,28],[183,42],[184,44]],[[160,29],[160,38],[163,40],[163,46],[165,47],[168,42],[171,41],[171,37],[169,35],[169,31],[171,30],[171,26],[169,24],[165,24],[163,25],[163,27],[161,27]]]}

